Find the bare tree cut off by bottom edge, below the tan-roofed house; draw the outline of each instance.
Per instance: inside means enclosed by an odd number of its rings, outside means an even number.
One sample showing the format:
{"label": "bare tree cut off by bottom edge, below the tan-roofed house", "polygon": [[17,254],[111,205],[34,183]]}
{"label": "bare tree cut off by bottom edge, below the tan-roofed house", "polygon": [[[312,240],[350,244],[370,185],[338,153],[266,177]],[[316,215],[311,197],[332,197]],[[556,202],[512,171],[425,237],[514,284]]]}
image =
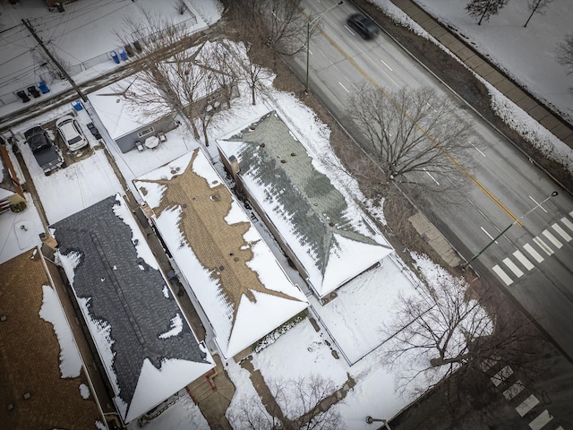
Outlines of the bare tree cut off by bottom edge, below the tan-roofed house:
{"label": "bare tree cut off by bottom edge, below the tan-roofed house", "polygon": [[227,411],[229,422],[236,428],[253,430],[335,430],[343,429],[336,405],[329,397],[336,384],[319,374],[295,380],[269,381],[272,400],[264,406],[261,399],[245,397]]}

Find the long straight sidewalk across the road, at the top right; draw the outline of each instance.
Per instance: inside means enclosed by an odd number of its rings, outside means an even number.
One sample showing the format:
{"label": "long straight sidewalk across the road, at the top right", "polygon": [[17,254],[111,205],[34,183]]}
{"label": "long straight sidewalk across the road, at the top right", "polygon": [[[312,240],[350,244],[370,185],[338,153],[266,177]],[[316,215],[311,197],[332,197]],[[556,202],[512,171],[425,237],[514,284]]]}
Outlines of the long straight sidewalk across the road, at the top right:
{"label": "long straight sidewalk across the road, at the top right", "polygon": [[493,87],[500,90],[539,124],[573,148],[573,125],[564,121],[549,108],[544,107],[535,100],[528,92],[518,87],[505,74],[500,72],[495,65],[490,64],[472,47],[458,39],[456,34],[434,20],[431,15],[425,13],[412,0],[391,0],[391,2],[417,22],[434,39],[439,40],[444,47],[447,47],[449,51],[458,56],[459,60],[466,64],[467,67],[482,76],[485,81],[490,82]]}

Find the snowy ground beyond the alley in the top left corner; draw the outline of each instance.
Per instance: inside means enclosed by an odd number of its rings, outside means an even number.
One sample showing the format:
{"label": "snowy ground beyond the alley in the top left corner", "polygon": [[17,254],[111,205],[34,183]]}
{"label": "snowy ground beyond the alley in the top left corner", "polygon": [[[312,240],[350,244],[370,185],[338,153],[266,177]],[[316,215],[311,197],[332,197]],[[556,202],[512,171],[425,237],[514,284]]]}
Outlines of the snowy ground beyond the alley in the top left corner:
{"label": "snowy ground beyond the alley in the top left corner", "polygon": [[[217,2],[185,0],[184,3],[193,11],[194,19],[191,13],[177,13],[175,0],[74,2],[65,4],[64,13],[48,12],[47,4],[42,1],[0,3],[0,57],[3,59],[0,116],[11,112],[14,106],[21,107],[16,91],[25,90],[40,81],[47,82],[52,92],[70,88],[66,81],[54,79],[54,69],[43,65],[45,54],[40,48],[35,48],[36,40],[22,25],[22,19],[30,21],[73,79],[84,82],[116,66],[111,52],[118,54],[122,47],[115,31],[109,29],[121,32],[127,17],[145,22],[144,13],[150,13],[174,22],[185,22],[190,29],[198,31],[207,28],[220,16],[221,8]],[[29,104],[41,99],[42,96],[31,99]]]}

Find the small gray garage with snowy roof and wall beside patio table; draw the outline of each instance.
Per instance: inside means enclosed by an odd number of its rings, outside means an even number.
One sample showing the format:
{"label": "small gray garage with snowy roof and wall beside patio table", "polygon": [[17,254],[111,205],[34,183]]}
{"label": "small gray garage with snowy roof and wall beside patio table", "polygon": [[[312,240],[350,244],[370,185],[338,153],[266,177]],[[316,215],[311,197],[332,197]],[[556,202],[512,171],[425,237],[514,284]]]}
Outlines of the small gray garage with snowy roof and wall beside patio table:
{"label": "small gray garage with snowy roof and wall beside patio table", "polygon": [[133,110],[124,91],[132,88],[137,79],[135,74],[88,96],[109,137],[124,153],[135,149],[137,142],[145,142],[147,138],[167,133],[177,126],[175,112],[167,107],[145,116]]}

